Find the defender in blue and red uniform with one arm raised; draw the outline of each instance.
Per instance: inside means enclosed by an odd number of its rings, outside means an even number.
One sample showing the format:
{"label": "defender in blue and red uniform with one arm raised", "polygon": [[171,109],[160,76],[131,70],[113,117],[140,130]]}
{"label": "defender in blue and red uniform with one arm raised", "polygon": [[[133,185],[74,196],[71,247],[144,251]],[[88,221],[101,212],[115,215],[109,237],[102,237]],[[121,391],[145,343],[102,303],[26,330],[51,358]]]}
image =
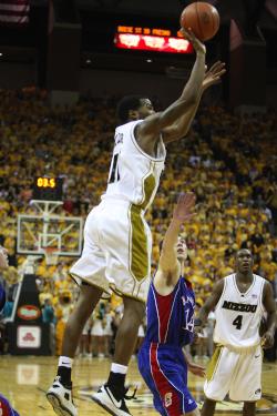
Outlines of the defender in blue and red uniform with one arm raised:
{"label": "defender in blue and red uniform with one arm raised", "polygon": [[194,337],[195,296],[183,276],[186,244],[178,240],[179,226],[194,214],[195,195],[181,195],[165,234],[157,272],[147,297],[147,329],[138,354],[138,368],[154,396],[154,406],[163,416],[199,410],[187,388],[187,369],[204,376],[204,368],[193,365],[182,347]]}

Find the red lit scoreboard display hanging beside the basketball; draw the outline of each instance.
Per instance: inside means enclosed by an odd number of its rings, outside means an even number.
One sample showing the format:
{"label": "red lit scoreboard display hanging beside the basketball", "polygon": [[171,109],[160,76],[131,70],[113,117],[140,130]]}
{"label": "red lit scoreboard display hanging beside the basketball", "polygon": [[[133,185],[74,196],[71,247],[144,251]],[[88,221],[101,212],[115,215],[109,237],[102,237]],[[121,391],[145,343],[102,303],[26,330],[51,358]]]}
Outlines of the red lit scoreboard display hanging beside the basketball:
{"label": "red lit scoreboard display hanging beside the basketball", "polygon": [[119,49],[141,51],[192,53],[192,44],[177,31],[170,29],[119,26],[114,37]]}

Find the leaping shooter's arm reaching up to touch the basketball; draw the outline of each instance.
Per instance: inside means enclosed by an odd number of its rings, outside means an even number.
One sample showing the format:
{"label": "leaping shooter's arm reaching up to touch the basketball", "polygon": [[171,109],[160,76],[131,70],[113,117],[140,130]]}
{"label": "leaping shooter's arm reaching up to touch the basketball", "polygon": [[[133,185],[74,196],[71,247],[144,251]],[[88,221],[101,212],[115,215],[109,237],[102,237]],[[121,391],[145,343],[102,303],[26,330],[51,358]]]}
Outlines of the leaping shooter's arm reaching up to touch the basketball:
{"label": "leaping shooter's arm reaching up to touch the basketball", "polygon": [[165,129],[173,125],[184,115],[185,112],[191,111],[194,108],[196,111],[198,106],[199,93],[205,77],[206,48],[192,32],[184,29],[182,29],[182,31],[195,49],[195,64],[181,97],[166,110],[146,118],[140,125],[137,125],[135,136],[142,149],[144,149],[144,146],[147,148],[148,142],[155,142],[161,133],[163,133],[165,142],[171,141],[171,133]]}

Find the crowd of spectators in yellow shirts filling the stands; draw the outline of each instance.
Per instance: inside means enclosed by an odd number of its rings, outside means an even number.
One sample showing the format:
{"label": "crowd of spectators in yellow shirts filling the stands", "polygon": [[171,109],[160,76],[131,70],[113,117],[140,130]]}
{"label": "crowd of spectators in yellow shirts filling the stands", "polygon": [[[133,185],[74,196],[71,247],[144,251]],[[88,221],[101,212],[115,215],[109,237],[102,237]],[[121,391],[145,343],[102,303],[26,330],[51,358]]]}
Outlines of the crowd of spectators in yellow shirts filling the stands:
{"label": "crowd of spectators in yellow shirts filling the stands", "polygon": [[[1,91],[0,244],[9,251],[10,268],[4,278],[10,287],[20,278],[24,261],[16,251],[17,215],[34,212],[30,205],[34,177],[63,177],[60,214],[85,219],[99,203],[107,181],[116,101],[82,98],[74,106],[51,108],[44,91]],[[178,193],[194,191],[197,214],[183,234],[188,246],[185,273],[198,306],[214,282],[233,272],[234,253],[239,247],[252,250],[255,273],[273,283],[277,298],[276,132],[277,113],[273,110],[236,115],[224,106],[205,106],[187,138],[168,144],[166,169],[146,215],[153,232],[153,270]],[[43,260],[37,268],[41,303],[53,308],[57,352],[78,296],[68,274],[71,264],[70,257],[60,258],[57,266],[47,266]],[[112,311],[106,308],[111,325],[119,315],[120,300],[113,297]],[[93,322],[95,316],[91,331]],[[105,336],[113,334],[110,327],[107,333]],[[98,346],[99,354],[109,353],[111,345],[106,345]]]}

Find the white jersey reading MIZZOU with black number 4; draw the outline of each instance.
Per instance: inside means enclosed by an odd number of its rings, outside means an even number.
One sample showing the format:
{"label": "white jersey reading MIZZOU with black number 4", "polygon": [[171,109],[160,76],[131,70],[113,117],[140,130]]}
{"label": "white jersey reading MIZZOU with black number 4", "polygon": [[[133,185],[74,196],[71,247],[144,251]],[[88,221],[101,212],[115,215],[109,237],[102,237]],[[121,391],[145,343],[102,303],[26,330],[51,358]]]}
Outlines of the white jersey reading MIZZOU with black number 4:
{"label": "white jersey reading MIZZOU with black number 4", "polygon": [[223,294],[215,310],[215,343],[237,348],[259,344],[264,284],[265,278],[254,274],[250,287],[240,293],[235,274],[224,277]]}

